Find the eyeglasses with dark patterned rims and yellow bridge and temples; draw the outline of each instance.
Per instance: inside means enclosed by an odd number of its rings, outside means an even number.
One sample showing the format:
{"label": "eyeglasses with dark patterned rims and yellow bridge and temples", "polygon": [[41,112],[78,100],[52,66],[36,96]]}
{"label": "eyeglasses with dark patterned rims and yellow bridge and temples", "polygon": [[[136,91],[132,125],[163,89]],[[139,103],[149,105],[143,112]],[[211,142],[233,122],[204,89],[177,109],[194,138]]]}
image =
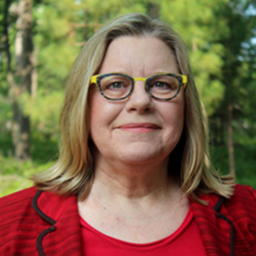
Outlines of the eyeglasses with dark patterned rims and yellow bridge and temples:
{"label": "eyeglasses with dark patterned rims and yellow bridge and temples", "polygon": [[145,82],[145,90],[154,99],[171,101],[183,85],[185,89],[187,76],[173,73],[160,73],[148,78],[132,78],[122,73],[97,74],[91,77],[90,84],[96,84],[103,97],[110,101],[121,101],[131,96],[134,83]]}

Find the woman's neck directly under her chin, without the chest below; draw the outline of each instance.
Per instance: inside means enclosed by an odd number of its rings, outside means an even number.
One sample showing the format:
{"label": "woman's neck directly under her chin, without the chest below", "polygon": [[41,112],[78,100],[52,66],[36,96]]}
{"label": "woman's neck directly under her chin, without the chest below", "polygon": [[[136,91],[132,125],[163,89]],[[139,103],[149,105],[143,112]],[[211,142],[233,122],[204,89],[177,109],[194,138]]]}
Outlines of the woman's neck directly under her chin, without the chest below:
{"label": "woman's neck directly under her chin, without the chest below", "polygon": [[110,201],[118,198],[129,201],[149,198],[159,200],[167,194],[170,196],[170,191],[178,189],[176,180],[168,175],[168,159],[143,165],[96,162],[90,195],[99,198],[108,198]]}

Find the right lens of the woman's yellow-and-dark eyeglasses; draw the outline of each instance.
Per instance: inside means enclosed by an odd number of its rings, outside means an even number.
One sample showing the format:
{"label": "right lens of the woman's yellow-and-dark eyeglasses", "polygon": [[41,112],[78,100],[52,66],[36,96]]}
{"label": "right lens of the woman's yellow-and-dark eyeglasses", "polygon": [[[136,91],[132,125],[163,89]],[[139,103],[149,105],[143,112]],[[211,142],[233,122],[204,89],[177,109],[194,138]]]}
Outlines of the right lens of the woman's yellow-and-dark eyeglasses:
{"label": "right lens of the woman's yellow-and-dark eyeglasses", "polygon": [[177,95],[179,80],[169,75],[154,76],[148,79],[148,90],[156,98],[170,99]]}

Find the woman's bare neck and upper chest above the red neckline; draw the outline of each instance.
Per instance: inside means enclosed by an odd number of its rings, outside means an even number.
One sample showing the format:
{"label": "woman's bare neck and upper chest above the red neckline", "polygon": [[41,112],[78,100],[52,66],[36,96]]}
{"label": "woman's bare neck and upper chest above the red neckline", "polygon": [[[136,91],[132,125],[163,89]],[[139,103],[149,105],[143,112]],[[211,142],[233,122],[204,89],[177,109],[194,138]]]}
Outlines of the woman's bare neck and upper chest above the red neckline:
{"label": "woman's bare neck and upper chest above the red neckline", "polygon": [[[168,177],[167,163],[112,162],[110,168],[97,161],[94,183],[87,198],[79,201],[79,214],[102,233],[124,241],[149,242],[170,235],[183,222],[189,202],[175,179]],[[155,225],[156,220],[161,224]]]}

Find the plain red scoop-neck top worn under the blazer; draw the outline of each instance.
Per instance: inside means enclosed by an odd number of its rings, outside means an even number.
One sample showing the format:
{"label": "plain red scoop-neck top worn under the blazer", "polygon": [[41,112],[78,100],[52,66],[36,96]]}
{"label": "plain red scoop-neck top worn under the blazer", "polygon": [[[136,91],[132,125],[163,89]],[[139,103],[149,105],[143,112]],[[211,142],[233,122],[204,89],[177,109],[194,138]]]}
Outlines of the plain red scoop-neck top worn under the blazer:
{"label": "plain red scoop-neck top worn under the blazer", "polygon": [[193,212],[189,209],[183,224],[172,235],[149,243],[131,243],[107,236],[80,217],[86,256],[207,256]]}

